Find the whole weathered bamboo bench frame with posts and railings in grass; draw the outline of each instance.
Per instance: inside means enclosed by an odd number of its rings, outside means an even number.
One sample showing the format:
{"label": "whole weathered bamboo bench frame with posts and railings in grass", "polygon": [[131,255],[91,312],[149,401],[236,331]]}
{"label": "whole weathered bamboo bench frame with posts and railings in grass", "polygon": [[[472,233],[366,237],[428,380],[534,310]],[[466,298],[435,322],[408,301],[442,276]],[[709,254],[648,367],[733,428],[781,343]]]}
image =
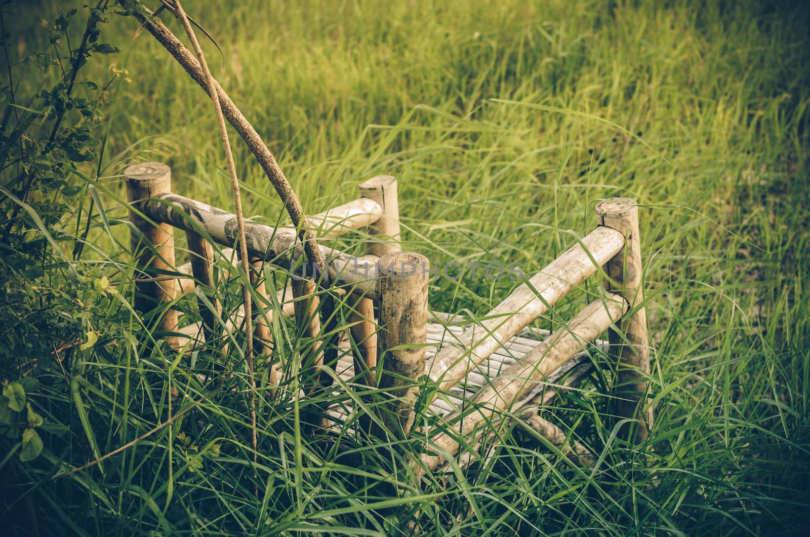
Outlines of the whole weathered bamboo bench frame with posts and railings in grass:
{"label": "whole weathered bamboo bench frame with posts and railings in grass", "polygon": [[[628,423],[621,433],[635,442],[646,440],[650,433],[653,424],[647,395],[650,353],[638,209],[633,200],[613,198],[599,203],[596,206],[599,226],[595,230],[518,286],[480,322],[466,331],[458,327],[448,330],[450,340],[445,340],[428,359],[425,350],[428,332],[433,333],[430,330],[435,331],[437,326],[433,324],[433,329],[428,329],[429,264],[424,256],[399,251],[401,227],[397,182],[393,177],[377,176],[361,183],[359,199],[310,217],[319,240],[338,238],[353,230],[367,230],[371,238],[363,259],[319,245],[327,260],[325,275],[307,273],[306,267],[301,268],[304,250],[296,230],[246,223],[246,246],[254,266],[250,281],[258,301],[253,311],[237,313],[235,320],[227,320],[220,328],[215,324],[222,322],[222,307],[212,292],[217,282],[213,273],[214,251],[208,239],[232,246],[237,239],[236,217],[173,194],[171,170],[166,165],[156,162],[133,165],[125,170],[125,177],[133,253],[139,270],[147,276],[136,281],[139,291],[136,307],[150,311],[193,290],[198,294],[202,317],[198,326],[178,330],[177,311],[165,307],[163,316],[157,320],[159,329],[211,343],[220,337],[221,329],[238,327],[240,315],[252,315],[258,320],[254,333],[257,353],[270,358],[273,312],[266,310],[270,301],[262,264],[296,271],[292,275],[292,290],[277,291],[279,301],[283,302],[283,295],[292,295],[292,302],[283,303],[283,313],[289,316],[294,311],[301,333],[316,340],[322,337],[322,330],[315,281],[326,277],[332,290],[349,294],[345,304],[349,308],[347,332],[354,350],[354,381],[382,394],[382,404],[372,405],[377,415],[372,432],[397,440],[412,438],[414,434],[424,436],[428,453],[414,460],[417,473],[435,470],[455,457],[459,445],[475,445],[474,436],[485,429],[481,425],[497,413],[509,411],[521,415],[519,410],[527,405],[544,405],[546,390],[540,390],[539,395],[532,390],[569,371],[566,364],[571,363],[572,357],[581,357],[578,353],[608,329],[608,352],[618,362],[613,379],[616,416]],[[185,230],[190,251],[190,264],[179,269],[175,268],[173,227]],[[223,248],[220,256],[227,257],[228,251]],[[602,298],[588,304],[569,324],[547,333],[542,342],[531,346],[521,343],[521,355],[500,375],[486,373],[484,378],[475,371],[490,356],[503,357],[505,352],[509,353],[503,349],[506,342],[600,267],[605,271],[606,293]],[[453,316],[431,314],[430,319],[445,329],[454,323]],[[177,347],[179,338],[168,337],[168,343]],[[320,345],[315,342],[316,370],[322,367]],[[579,382],[590,366],[578,371],[566,382],[570,385]],[[428,405],[439,393],[458,391],[454,386],[463,379],[479,377],[484,382],[478,384],[483,387],[474,397],[465,399],[462,406],[447,408],[450,413],[441,417],[432,429],[416,433],[411,431],[416,423],[414,407],[424,376],[424,381],[438,388],[432,397],[427,397]],[[279,367],[271,369],[270,380],[274,386],[280,383]],[[369,397],[363,397],[370,402]],[[539,415],[523,415],[523,419],[527,427],[552,442],[565,440],[560,427]],[[366,427],[369,416],[360,421]],[[579,462],[590,460],[582,445],[574,443],[569,449],[573,449],[571,454]]]}

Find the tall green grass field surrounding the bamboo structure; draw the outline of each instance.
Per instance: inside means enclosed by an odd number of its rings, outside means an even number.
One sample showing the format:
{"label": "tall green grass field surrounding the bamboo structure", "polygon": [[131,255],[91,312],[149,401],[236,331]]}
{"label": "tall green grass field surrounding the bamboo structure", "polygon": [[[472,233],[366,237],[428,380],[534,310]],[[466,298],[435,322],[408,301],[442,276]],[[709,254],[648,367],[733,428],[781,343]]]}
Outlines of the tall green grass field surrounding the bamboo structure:
{"label": "tall green grass field surrounding the bamboo structure", "polygon": [[[787,2],[669,3],[185,2],[223,49],[220,59],[203,44],[214,75],[309,213],[394,174],[409,249],[434,266],[517,261],[531,273],[595,225],[598,200],[636,199],[654,336],[656,425],[644,445],[616,440],[595,376],[546,414],[599,454],[596,466],[572,466],[513,423],[488,457],[418,488],[397,470],[401,455],[353,436],[351,420],[341,441],[301,436],[301,420],[328,398],[300,399],[288,374],[275,397],[260,390],[254,469],[237,374],[234,389],[120,455],[6,488],[8,527],[397,535],[411,521],[437,535],[800,533],[810,507],[810,13]],[[19,54],[36,49],[36,24],[55,10],[11,7]],[[112,238],[90,215],[95,248],[79,260],[116,283],[133,272],[124,165],[164,161],[178,193],[232,206],[209,102],[146,32],[131,41],[136,27],[113,16],[104,34],[122,49],[105,58],[126,68],[95,178]],[[87,72],[103,79],[108,67]],[[41,77],[26,68],[21,92]],[[235,157],[245,213],[284,221],[248,151],[237,144]],[[431,286],[433,309],[483,316],[515,285],[465,270]],[[268,277],[280,286],[288,275]],[[570,318],[596,286],[538,325]],[[100,343],[75,350],[64,375],[41,374],[37,408],[70,435],[48,440],[35,463],[0,462],[2,481],[82,466],[205,393],[195,374],[210,372],[214,353],[194,363],[160,346],[148,354],[139,325],[149,320],[122,310],[131,286],[117,289]],[[237,307],[236,289],[219,295],[226,311]],[[178,304],[190,317],[193,306]],[[309,359],[299,329],[273,330],[288,373]],[[258,374],[266,386],[267,367]],[[196,467],[214,444],[220,453]]]}

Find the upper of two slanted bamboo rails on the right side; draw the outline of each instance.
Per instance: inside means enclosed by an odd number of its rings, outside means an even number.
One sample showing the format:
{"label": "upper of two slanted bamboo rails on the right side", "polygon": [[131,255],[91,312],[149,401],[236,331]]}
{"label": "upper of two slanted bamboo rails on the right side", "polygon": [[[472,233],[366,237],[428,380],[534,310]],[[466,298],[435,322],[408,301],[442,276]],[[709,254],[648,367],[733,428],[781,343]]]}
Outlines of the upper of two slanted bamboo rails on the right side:
{"label": "upper of two slanted bamboo rails on the right side", "polygon": [[616,230],[598,227],[592,231],[581,243],[570,247],[531,277],[531,286],[518,286],[485,316],[480,327],[467,330],[454,345],[445,344],[428,363],[428,374],[441,379],[441,389],[449,389],[503,342],[526,328],[574,286],[607,263],[624,243],[624,236]]}

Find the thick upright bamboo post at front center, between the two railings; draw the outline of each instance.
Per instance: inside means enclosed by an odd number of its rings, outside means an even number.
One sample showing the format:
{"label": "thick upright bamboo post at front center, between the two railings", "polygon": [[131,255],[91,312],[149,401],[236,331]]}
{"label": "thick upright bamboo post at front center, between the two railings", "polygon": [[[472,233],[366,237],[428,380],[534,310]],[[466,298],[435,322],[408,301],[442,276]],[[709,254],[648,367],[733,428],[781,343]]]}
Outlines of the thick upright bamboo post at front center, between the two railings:
{"label": "thick upright bamboo post at front center, between the two railings", "polygon": [[416,382],[425,374],[428,269],[426,257],[409,251],[380,258],[377,357],[383,365],[380,388],[390,397],[380,418],[387,432],[400,439],[413,426]]}

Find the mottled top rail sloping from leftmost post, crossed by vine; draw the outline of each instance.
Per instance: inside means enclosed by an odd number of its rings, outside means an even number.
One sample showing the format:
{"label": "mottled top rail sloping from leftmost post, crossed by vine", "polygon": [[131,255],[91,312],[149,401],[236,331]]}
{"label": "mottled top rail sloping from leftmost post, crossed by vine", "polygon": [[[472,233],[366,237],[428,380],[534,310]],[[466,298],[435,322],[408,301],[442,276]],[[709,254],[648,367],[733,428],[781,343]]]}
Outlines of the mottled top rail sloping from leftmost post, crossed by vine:
{"label": "mottled top rail sloping from leftmost post, crossed by vine", "polygon": [[[204,230],[215,242],[232,245],[237,237],[236,217],[220,208],[190,200],[181,195],[166,194],[143,204],[148,217],[181,230]],[[250,256],[291,269],[304,255],[296,235],[271,226],[245,222],[246,243]],[[351,286],[358,294],[377,298],[377,265],[348,256],[328,247],[320,247],[326,257],[326,275],[330,282]],[[312,267],[305,273],[314,276]]]}

